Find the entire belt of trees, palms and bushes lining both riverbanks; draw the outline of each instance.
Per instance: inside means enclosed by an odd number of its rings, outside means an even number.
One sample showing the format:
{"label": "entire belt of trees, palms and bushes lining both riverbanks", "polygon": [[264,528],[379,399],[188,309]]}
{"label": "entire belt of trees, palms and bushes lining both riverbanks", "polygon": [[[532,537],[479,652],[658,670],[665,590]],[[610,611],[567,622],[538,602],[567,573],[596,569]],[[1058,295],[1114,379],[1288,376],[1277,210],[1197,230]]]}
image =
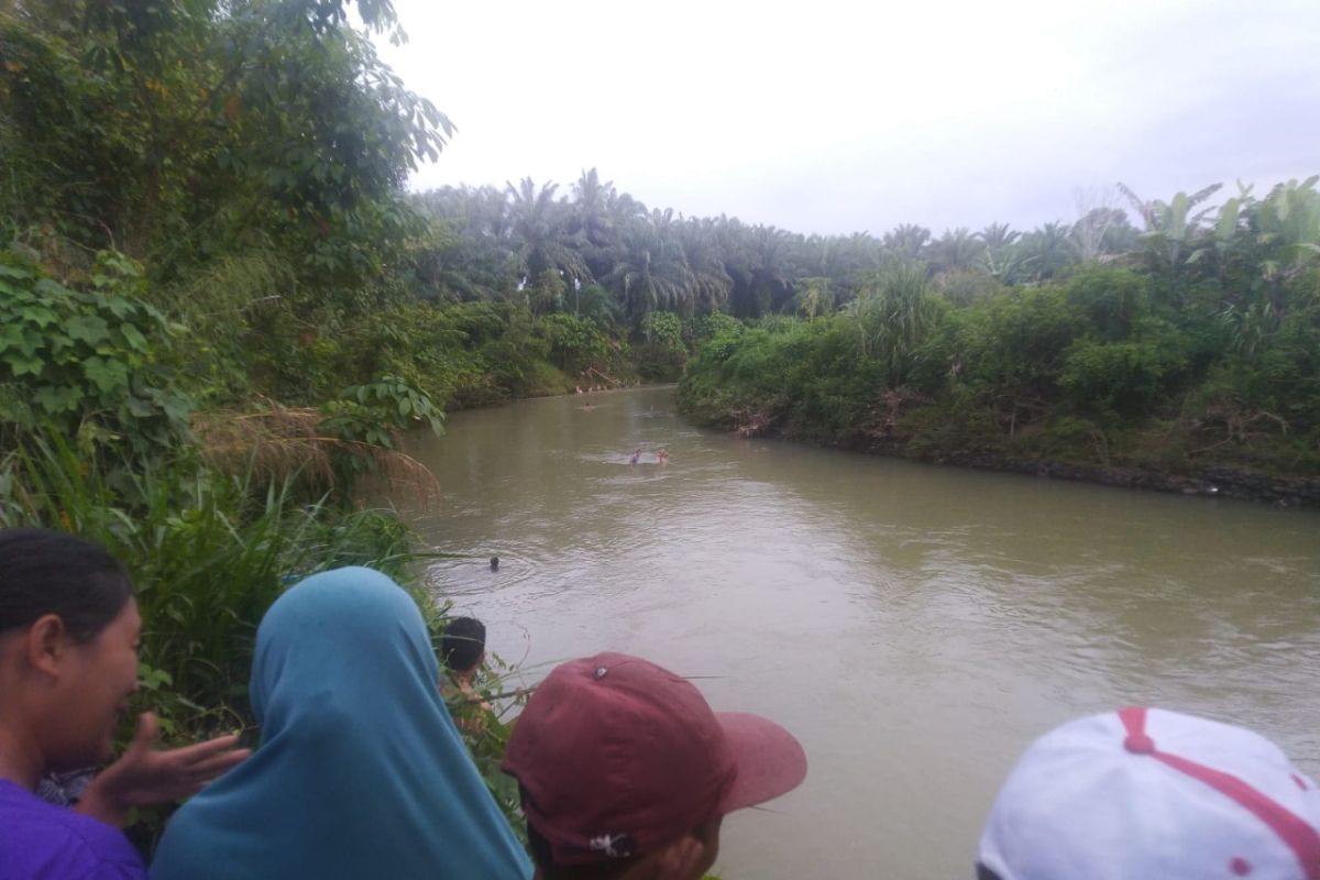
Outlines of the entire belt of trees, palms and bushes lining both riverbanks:
{"label": "entire belt of trees, palms and bushes lining both riverbanks", "polygon": [[684,218],[594,169],[407,194],[455,127],[367,32],[405,38],[388,0],[0,0],[0,525],[128,562],[172,738],[251,723],[292,579],[414,582],[358,495],[432,492],[399,438],[454,408],[686,369],[684,409],[744,433],[1320,472],[1313,179],[940,237]]}

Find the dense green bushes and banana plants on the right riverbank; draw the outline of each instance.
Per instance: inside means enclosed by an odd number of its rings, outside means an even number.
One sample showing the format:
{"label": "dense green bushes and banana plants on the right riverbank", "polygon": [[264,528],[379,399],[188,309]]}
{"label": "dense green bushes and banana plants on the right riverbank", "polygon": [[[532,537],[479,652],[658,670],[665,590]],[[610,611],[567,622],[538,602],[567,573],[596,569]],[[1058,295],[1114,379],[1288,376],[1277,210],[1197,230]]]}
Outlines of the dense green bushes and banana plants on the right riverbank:
{"label": "dense green bushes and banana plants on the right riverbank", "polygon": [[[1213,222],[1192,208],[1217,187],[1138,203],[1133,251],[1084,260],[1074,228],[1065,264],[1016,284],[993,268],[1038,263],[1030,239],[906,235],[842,307],[717,335],[681,405],[746,433],[937,459],[1320,474],[1315,185],[1245,190]],[[993,263],[954,265],[954,240],[995,239]]]}

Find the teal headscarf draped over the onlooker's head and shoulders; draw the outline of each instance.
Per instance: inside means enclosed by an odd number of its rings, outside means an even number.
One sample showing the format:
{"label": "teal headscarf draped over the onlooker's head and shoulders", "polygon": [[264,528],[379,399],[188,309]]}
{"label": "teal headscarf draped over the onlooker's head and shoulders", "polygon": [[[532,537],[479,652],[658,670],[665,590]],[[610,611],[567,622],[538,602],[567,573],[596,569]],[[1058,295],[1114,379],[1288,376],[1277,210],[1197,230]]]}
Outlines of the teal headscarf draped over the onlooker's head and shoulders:
{"label": "teal headscarf draped over the onlooker's head and shoulders", "polygon": [[527,880],[523,847],[437,687],[421,612],[338,569],[257,629],[256,753],[170,819],[153,880]]}

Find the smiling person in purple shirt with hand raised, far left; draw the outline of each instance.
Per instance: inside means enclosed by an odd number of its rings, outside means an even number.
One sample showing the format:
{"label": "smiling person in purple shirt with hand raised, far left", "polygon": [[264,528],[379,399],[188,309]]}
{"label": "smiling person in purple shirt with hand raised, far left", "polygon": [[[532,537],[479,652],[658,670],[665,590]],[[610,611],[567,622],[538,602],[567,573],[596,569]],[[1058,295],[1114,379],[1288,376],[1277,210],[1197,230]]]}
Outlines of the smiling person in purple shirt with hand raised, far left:
{"label": "smiling person in purple shirt with hand raised, far left", "polygon": [[140,631],[128,573],[104,548],[46,529],[0,530],[0,877],[144,877],[116,827],[128,810],[191,794],[247,756],[235,736],[154,751],[156,719],[144,715],[77,810],[37,797],[42,776],[110,757],[137,686]]}

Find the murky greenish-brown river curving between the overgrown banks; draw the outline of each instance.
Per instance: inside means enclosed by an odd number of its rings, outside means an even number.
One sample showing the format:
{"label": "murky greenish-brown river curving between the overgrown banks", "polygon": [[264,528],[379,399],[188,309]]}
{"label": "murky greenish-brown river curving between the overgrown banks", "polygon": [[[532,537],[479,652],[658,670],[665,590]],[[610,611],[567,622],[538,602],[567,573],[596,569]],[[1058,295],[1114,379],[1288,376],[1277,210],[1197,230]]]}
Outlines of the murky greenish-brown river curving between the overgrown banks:
{"label": "murky greenish-brown river curving between the overgrown banks", "polygon": [[725,880],[968,879],[1032,738],[1129,703],[1320,776],[1315,512],[743,441],[665,388],[458,413],[411,451],[444,495],[411,520],[471,557],[430,586],[528,682],[624,650],[803,741],[803,786],[725,822]]}

